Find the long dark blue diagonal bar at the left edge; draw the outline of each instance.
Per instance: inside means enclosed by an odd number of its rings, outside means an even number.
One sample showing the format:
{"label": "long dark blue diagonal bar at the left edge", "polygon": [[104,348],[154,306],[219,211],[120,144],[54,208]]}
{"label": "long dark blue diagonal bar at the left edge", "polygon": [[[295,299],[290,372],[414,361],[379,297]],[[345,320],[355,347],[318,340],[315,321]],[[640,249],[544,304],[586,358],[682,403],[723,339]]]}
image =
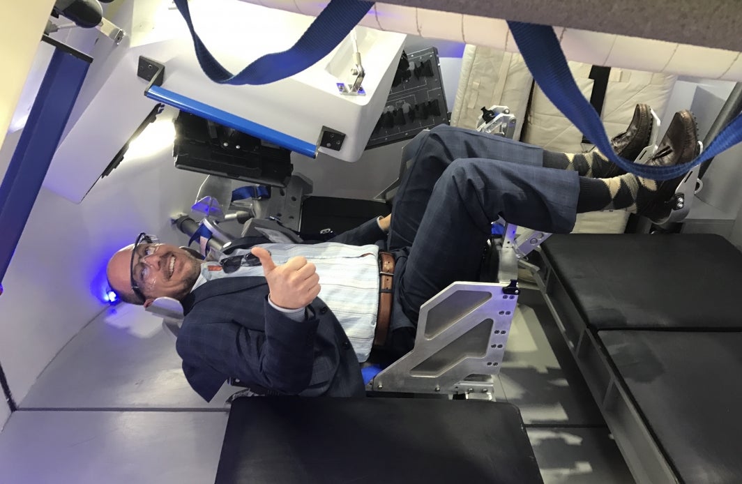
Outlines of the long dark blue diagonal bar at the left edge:
{"label": "long dark blue diagonal bar at the left edge", "polygon": [[26,127],[0,184],[0,282],[10,265],[36,196],[90,63],[57,48]]}

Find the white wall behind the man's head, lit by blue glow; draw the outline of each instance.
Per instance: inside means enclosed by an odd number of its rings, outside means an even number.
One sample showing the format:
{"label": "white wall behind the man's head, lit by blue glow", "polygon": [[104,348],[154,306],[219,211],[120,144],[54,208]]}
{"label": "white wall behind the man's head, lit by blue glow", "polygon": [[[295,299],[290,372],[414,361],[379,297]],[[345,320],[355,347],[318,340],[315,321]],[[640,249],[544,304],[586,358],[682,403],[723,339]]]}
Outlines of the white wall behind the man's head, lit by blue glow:
{"label": "white wall behind the man's head, lit by blue glow", "polygon": [[[0,355],[17,401],[39,373],[105,307],[105,264],[139,232],[184,243],[168,218],[187,210],[203,175],[175,169],[170,145],[124,160],[80,204],[42,189],[0,296]],[[10,153],[1,150],[5,160]]]}

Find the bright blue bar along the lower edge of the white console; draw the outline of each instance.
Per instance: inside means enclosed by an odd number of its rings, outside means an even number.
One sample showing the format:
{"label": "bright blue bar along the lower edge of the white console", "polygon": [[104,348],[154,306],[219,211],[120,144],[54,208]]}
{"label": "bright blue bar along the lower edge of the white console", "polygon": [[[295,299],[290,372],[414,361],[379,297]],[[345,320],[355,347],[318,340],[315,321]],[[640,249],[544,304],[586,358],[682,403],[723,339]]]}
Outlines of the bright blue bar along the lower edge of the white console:
{"label": "bright blue bar along the lower edge of the white console", "polygon": [[283,134],[280,131],[275,131],[275,129],[259,125],[257,122],[234,116],[234,114],[214,108],[213,106],[204,104],[203,102],[198,102],[190,97],[185,97],[174,93],[173,91],[168,91],[161,86],[153,85],[145,92],[145,96],[158,102],[164,102],[167,105],[171,105],[174,108],[178,108],[187,113],[195,114],[196,116],[206,118],[207,120],[234,128],[237,131],[250,134],[254,137],[260,138],[260,140],[266,140],[269,143],[283,146],[283,148],[290,149],[298,154],[303,154],[306,157],[317,157],[317,146],[312,145],[312,143],[302,141],[298,138],[289,136],[288,134]]}

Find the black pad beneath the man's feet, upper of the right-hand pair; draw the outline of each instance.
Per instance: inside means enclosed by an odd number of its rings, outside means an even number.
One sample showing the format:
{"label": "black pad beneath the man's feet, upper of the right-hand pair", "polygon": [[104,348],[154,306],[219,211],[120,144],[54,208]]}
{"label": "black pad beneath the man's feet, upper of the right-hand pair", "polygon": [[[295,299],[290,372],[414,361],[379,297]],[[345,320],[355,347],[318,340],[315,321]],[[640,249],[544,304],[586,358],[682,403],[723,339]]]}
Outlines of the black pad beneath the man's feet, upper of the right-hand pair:
{"label": "black pad beneath the man's feet, upper of the right-hand pair", "polygon": [[543,248],[594,328],[742,329],[742,253],[718,235],[553,235]]}

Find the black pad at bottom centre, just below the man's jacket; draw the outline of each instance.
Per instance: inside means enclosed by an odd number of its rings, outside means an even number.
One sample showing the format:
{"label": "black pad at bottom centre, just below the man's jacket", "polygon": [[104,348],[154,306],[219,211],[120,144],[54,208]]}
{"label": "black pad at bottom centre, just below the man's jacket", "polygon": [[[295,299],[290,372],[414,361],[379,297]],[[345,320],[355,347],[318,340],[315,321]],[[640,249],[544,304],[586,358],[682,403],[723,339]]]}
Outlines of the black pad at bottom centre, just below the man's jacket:
{"label": "black pad at bottom centre, just below the man's jacket", "polygon": [[518,409],[438,399],[235,399],[216,484],[542,483]]}

